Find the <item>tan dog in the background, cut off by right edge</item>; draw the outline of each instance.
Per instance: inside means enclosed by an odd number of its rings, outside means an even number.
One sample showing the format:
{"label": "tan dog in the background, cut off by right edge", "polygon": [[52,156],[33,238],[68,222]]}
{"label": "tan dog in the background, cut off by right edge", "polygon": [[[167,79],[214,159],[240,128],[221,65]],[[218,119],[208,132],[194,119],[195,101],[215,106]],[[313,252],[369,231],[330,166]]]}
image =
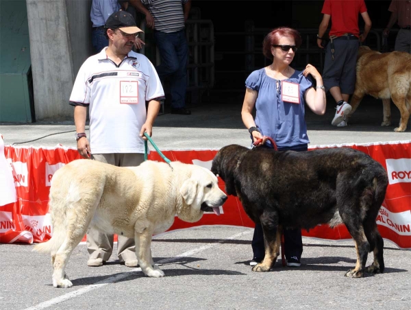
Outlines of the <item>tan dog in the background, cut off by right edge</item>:
{"label": "tan dog in the background, cut off by right edge", "polygon": [[405,131],[411,114],[411,54],[403,51],[379,53],[361,46],[357,57],[356,89],[351,97],[352,110],[347,115],[347,123],[364,95],[382,99],[384,119],[381,126],[391,125],[390,99],[393,99],[401,113],[399,127],[394,131]]}

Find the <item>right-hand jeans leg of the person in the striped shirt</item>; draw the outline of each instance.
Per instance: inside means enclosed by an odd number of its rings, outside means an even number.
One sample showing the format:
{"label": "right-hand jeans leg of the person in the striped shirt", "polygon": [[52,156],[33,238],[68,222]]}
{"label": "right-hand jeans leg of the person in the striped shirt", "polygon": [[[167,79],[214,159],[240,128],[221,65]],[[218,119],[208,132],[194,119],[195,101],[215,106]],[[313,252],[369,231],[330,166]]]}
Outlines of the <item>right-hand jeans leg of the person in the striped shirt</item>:
{"label": "right-hand jeans leg of the person in the striped shirt", "polygon": [[178,69],[171,77],[170,91],[171,106],[178,109],[186,106],[188,45],[185,29],[176,32],[176,35],[175,52],[178,58]]}

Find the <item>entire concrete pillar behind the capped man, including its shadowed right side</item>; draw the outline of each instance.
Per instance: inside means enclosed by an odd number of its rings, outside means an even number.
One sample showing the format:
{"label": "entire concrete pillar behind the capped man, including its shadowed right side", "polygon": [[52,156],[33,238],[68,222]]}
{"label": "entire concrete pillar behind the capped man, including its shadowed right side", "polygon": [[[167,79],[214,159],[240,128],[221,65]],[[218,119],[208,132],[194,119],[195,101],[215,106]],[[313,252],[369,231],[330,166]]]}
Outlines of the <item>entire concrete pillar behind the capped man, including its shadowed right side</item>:
{"label": "entire concrete pillar behind the capped man, including its shadowed right side", "polygon": [[91,54],[90,6],[91,0],[27,0],[37,121],[73,120],[71,89]]}

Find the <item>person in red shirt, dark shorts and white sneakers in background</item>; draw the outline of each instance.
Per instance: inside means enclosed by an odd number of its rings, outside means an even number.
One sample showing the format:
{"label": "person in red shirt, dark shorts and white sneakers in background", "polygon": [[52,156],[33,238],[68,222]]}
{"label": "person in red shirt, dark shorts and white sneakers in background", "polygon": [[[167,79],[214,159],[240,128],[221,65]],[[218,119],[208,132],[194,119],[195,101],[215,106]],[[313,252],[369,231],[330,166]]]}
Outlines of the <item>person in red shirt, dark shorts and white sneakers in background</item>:
{"label": "person in red shirt, dark shorts and white sneakers in background", "polygon": [[[331,93],[337,103],[336,114],[332,119],[333,126],[347,126],[345,115],[351,112],[348,104],[349,95],[356,85],[357,53],[360,42],[364,42],[371,29],[371,19],[366,12],[364,0],[325,0],[323,20],[319,26],[317,45],[321,45],[323,36],[329,30],[329,43],[325,50],[323,80],[325,89]],[[360,35],[358,14],[364,19],[364,33]]]}

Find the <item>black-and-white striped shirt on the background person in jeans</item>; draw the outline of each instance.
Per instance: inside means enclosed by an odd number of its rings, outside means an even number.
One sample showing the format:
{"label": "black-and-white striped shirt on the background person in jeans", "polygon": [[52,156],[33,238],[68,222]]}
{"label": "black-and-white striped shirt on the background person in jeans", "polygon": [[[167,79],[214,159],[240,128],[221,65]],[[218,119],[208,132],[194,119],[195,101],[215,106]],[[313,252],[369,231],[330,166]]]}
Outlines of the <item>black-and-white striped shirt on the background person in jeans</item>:
{"label": "black-and-white striped shirt on the background person in jeans", "polygon": [[184,29],[183,5],[188,0],[141,0],[154,19],[154,29],[160,32],[177,32]]}

